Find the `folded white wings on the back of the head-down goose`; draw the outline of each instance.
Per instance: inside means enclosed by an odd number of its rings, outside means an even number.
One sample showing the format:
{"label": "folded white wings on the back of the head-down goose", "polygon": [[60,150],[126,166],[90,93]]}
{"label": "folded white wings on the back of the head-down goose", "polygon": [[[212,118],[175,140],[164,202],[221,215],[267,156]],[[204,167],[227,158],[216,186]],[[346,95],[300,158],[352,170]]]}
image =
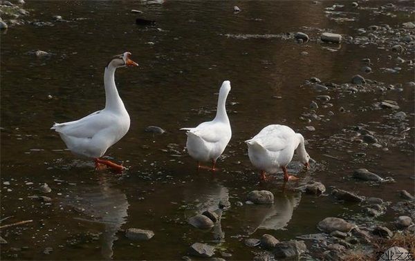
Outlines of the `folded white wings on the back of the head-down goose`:
{"label": "folded white wings on the back of the head-down goose", "polygon": [[294,135],[295,132],[287,126],[269,125],[252,139],[268,151],[282,151],[289,146]]}

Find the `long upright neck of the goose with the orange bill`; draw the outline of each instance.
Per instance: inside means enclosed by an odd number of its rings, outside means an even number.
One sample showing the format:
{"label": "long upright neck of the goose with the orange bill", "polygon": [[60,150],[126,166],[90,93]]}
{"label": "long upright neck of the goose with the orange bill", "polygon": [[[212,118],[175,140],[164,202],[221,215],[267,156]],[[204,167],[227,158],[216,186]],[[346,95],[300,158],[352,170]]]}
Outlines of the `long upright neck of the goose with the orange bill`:
{"label": "long upright neck of the goose with the orange bill", "polygon": [[124,108],[124,104],[118,95],[118,90],[115,80],[116,67],[107,66],[104,72],[104,86],[105,86],[105,108],[109,110],[119,110]]}

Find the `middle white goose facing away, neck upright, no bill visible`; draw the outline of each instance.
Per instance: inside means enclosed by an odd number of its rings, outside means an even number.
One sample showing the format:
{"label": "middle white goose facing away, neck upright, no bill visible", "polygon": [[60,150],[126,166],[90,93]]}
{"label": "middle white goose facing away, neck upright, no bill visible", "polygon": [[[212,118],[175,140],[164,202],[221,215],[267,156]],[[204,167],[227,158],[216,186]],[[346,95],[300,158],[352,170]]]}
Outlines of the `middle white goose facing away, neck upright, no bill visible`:
{"label": "middle white goose facing away, neck upright, no bill visible", "polygon": [[187,152],[197,160],[197,168],[200,162],[212,162],[212,171],[215,171],[216,160],[225,151],[232,137],[230,122],[226,114],[225,102],[230,92],[230,81],[223,81],[219,90],[216,117],[211,122],[203,122],[196,128],[181,128],[187,131]]}

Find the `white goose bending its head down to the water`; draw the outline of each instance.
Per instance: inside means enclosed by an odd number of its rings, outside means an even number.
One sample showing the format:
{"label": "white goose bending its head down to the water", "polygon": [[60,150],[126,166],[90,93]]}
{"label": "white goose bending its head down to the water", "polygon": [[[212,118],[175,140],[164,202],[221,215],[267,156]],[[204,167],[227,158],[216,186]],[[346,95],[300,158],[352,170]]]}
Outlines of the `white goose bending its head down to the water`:
{"label": "white goose bending its head down to the water", "polygon": [[304,147],[304,137],[284,125],[268,125],[255,137],[246,141],[248,156],[252,165],[261,171],[261,180],[266,180],[266,173],[277,173],[279,168],[284,172],[284,180],[297,180],[288,175],[286,166],[297,152],[299,161],[308,168],[310,156]]}

